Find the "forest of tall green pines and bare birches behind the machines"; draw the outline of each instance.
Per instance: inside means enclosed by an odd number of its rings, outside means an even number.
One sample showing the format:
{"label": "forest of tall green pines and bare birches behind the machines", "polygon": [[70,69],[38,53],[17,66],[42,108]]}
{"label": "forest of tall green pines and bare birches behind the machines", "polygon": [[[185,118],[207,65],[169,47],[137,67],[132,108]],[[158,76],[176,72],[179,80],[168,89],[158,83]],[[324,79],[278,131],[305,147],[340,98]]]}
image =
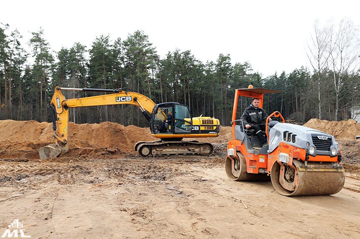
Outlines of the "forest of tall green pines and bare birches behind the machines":
{"label": "forest of tall green pines and bare birches behind the machines", "polygon": [[[224,126],[231,121],[234,91],[254,87],[281,90],[266,96],[264,109],[306,122],[317,117],[338,121],[351,117],[359,103],[359,42],[351,21],[338,26],[314,25],[308,45],[313,66],[263,76],[250,62],[232,64],[230,54],[216,61],[199,61],[190,50],[169,51],[160,58],[143,31],[127,38],[96,37],[88,48],[79,42],[54,52],[44,31],[31,32],[23,44],[21,33],[0,24],[0,119],[51,121],[49,102],[54,88],[129,88],[156,103],[179,102],[192,116],[214,116]],[[30,49],[30,50],[25,50]],[[294,56],[296,57],[296,56]],[[93,95],[63,92],[67,98]],[[245,109],[245,99],[240,104]],[[116,122],[147,127],[139,109],[131,105],[94,106],[70,111],[70,121]]]}

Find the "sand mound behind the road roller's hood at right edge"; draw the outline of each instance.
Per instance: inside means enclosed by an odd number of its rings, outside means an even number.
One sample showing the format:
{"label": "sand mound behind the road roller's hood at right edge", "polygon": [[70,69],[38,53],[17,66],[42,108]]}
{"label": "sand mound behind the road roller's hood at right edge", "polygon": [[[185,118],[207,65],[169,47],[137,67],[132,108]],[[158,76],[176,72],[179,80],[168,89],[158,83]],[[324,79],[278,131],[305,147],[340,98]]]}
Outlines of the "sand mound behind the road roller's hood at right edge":
{"label": "sand mound behind the road roller's hood at right edge", "polygon": [[337,139],[355,139],[360,135],[360,124],[353,119],[348,121],[325,121],[312,118],[304,126],[333,135]]}

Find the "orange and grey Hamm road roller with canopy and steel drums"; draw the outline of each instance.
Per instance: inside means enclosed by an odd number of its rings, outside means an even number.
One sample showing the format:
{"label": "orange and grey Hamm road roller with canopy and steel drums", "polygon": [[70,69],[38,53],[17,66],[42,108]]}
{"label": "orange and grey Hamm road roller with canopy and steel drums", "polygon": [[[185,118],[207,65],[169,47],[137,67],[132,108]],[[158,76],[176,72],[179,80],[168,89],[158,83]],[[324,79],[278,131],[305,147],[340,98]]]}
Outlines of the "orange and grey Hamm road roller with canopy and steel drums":
{"label": "orange and grey Hamm road roller with canopy and steel drums", "polygon": [[[260,143],[254,132],[237,119],[239,98],[258,98],[263,107],[264,94],[280,91],[263,88],[235,90],[232,116],[233,139],[227,143],[225,171],[234,181],[270,180],[282,195],[330,195],[345,183],[339,164],[341,151],[334,136],[299,125],[284,123],[280,112],[266,119],[268,143]],[[271,117],[279,121],[271,121]]]}

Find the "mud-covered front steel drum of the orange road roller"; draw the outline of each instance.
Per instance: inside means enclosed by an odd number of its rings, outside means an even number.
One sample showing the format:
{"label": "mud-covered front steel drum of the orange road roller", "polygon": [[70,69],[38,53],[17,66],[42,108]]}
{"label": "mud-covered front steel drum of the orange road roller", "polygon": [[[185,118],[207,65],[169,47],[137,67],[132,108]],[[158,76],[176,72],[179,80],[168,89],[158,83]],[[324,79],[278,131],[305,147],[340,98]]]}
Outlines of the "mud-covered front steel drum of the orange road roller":
{"label": "mud-covered front steel drum of the orange road roller", "polygon": [[285,196],[331,195],[344,186],[344,168],[338,163],[293,161],[296,169],[275,162],[271,182]]}

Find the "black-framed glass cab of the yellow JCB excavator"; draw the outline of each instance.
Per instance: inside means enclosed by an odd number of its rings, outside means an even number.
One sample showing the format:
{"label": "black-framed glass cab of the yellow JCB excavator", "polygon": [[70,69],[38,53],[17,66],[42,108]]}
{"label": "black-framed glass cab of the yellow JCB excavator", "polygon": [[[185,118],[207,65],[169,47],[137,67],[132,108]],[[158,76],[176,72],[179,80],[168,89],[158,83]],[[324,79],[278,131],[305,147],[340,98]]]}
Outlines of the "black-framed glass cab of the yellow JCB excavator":
{"label": "black-framed glass cab of the yellow JCB excavator", "polygon": [[157,104],[151,114],[152,134],[190,134],[192,129],[189,108],[175,102]]}

